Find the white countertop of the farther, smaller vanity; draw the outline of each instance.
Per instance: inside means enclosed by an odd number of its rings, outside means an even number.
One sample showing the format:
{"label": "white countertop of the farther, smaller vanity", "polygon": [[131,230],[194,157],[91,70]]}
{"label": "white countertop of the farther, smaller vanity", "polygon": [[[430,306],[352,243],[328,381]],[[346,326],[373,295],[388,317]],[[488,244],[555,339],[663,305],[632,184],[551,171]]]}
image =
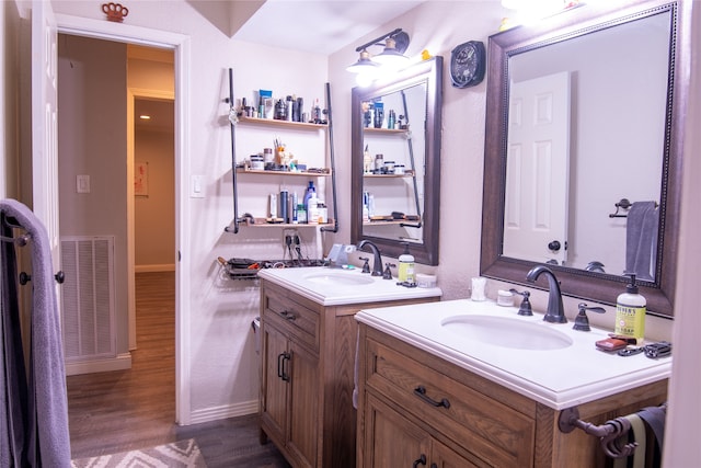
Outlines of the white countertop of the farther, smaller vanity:
{"label": "white countertop of the farther, smaller vanity", "polygon": [[360,269],[266,269],[261,270],[258,276],[322,306],[420,299],[443,295],[438,287],[399,286],[397,278],[370,276],[369,273],[361,273]]}

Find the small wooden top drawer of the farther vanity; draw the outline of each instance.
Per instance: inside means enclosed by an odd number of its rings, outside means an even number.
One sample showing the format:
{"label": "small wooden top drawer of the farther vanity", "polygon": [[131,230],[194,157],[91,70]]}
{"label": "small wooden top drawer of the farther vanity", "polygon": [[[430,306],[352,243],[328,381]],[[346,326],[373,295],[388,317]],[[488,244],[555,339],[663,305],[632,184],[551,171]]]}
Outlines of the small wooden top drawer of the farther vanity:
{"label": "small wooden top drawer of the farther vanity", "polygon": [[319,351],[319,312],[272,289],[265,290],[263,300],[263,321],[274,321],[311,350]]}

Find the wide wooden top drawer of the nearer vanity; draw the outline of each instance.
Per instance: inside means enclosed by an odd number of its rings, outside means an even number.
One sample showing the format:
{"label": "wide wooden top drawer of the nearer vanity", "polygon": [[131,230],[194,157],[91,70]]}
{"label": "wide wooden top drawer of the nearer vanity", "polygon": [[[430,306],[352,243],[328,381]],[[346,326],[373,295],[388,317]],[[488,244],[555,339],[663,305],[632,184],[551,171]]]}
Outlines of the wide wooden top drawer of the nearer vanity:
{"label": "wide wooden top drawer of the nearer vanity", "polygon": [[390,346],[372,340],[366,346],[367,391],[386,396],[492,466],[532,466],[532,418]]}

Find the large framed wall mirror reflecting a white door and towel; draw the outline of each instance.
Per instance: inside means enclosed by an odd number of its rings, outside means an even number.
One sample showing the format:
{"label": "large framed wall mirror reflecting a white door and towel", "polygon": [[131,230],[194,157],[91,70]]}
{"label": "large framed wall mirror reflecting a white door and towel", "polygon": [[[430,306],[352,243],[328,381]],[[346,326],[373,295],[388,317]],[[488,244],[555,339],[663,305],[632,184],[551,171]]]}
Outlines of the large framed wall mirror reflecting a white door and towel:
{"label": "large framed wall mirror reflecting a white door and towel", "polygon": [[490,37],[482,275],[547,263],[564,294],[614,304],[635,272],[673,316],[686,15],[583,5]]}

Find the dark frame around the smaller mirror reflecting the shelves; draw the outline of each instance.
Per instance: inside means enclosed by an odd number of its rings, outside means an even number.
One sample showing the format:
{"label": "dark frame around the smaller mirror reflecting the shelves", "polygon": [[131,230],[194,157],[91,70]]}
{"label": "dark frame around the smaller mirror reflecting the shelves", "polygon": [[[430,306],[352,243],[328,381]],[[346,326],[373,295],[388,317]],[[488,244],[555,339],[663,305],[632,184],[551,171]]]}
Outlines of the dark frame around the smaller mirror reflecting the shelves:
{"label": "dark frame around the smaller mirror reflecting the shelves", "polygon": [[[436,56],[393,73],[391,79],[376,81],[369,87],[353,88],[352,92],[352,152],[350,152],[350,241],[375,243],[382,255],[399,258],[404,251],[403,242],[363,233],[363,113],[361,103],[372,98],[391,94],[420,83],[426,83],[426,157],[424,176],[424,206],[422,243],[410,243],[416,263],[438,264],[438,222],[440,219],[440,138],[443,112],[443,57]],[[416,127],[411,127],[413,132]]]}

